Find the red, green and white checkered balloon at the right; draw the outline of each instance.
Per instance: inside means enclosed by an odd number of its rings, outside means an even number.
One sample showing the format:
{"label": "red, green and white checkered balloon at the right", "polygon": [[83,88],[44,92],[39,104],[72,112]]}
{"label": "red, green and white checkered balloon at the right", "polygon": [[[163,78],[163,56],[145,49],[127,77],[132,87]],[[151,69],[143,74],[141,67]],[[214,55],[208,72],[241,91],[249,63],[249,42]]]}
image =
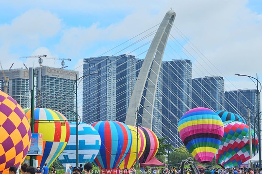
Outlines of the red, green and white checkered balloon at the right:
{"label": "red, green and white checkered balloon at the right", "polygon": [[[242,164],[250,159],[248,126],[239,121],[224,122],[224,136],[216,153],[216,163],[224,168]],[[258,137],[251,130],[253,147],[258,145]],[[253,153],[256,148],[253,148]]]}

